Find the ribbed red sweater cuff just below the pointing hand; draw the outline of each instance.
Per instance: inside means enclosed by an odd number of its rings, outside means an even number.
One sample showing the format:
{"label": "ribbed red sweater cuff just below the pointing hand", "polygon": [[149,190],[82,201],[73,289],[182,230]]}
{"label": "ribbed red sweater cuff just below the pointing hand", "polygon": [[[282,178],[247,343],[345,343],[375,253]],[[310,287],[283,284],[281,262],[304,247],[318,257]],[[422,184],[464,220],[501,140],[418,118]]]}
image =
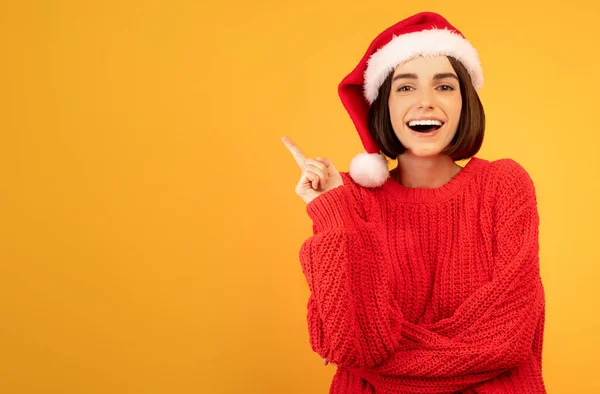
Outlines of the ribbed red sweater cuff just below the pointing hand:
{"label": "ribbed red sweater cuff just below the pointing hand", "polygon": [[342,185],[317,196],[308,203],[306,211],[317,233],[334,228],[356,227],[362,222],[356,208],[351,190]]}

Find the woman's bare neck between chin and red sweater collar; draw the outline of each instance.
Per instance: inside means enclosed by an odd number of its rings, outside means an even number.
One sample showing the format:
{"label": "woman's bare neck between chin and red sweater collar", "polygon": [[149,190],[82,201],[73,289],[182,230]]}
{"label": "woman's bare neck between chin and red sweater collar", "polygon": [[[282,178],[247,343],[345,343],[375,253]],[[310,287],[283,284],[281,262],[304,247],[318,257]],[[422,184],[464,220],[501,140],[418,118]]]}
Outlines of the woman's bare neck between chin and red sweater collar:
{"label": "woman's bare neck between chin and red sweater collar", "polygon": [[398,156],[398,167],[390,175],[405,187],[437,188],[446,184],[461,169],[450,156],[418,157],[407,151]]}

